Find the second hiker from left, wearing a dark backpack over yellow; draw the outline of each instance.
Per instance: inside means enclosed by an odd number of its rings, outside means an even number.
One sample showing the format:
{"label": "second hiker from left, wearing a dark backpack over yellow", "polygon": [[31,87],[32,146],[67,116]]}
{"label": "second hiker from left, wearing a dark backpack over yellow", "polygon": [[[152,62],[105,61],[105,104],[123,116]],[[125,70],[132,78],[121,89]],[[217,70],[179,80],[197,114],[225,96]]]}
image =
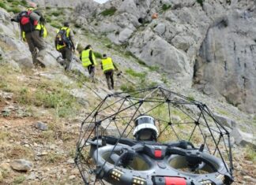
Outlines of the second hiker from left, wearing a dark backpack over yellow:
{"label": "second hiker from left, wearing a dark backpack over yellow", "polygon": [[73,43],[73,31],[70,29],[70,23],[66,21],[55,37],[55,48],[62,54],[61,65],[64,66],[65,70],[70,68],[73,52],[75,52]]}

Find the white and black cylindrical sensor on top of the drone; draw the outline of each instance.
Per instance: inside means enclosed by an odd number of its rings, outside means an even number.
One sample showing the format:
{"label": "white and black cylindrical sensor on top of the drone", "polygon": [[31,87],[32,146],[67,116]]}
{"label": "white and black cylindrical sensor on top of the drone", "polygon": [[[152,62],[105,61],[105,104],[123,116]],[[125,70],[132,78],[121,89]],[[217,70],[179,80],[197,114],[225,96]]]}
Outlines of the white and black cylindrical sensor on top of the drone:
{"label": "white and black cylindrical sensor on top of the drone", "polygon": [[134,120],[134,137],[138,141],[156,141],[158,130],[155,119],[150,116],[140,116]]}

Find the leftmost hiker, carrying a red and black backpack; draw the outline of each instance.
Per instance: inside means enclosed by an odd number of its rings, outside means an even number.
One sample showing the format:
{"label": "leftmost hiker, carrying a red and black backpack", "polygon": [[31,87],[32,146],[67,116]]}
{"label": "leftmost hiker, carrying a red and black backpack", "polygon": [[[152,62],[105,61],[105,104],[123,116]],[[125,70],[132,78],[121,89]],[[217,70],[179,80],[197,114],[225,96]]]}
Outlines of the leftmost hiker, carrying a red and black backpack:
{"label": "leftmost hiker, carrying a red and black backpack", "polygon": [[11,21],[20,24],[21,36],[28,43],[33,64],[45,67],[43,64],[43,57],[45,55],[43,38],[47,36],[47,30],[44,26],[45,19],[43,14],[36,8],[36,3],[31,2],[27,10],[18,13]]}

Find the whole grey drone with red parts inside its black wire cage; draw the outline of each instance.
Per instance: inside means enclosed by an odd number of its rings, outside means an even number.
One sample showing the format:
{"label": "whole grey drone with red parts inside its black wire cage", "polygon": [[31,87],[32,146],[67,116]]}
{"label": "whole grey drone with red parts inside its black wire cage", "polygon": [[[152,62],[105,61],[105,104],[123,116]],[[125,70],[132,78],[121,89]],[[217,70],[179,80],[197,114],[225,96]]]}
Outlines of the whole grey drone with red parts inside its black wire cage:
{"label": "whole grey drone with red parts inside its black wire cage", "polygon": [[75,164],[86,185],[234,181],[228,129],[207,105],[163,87],[107,94],[81,123]]}

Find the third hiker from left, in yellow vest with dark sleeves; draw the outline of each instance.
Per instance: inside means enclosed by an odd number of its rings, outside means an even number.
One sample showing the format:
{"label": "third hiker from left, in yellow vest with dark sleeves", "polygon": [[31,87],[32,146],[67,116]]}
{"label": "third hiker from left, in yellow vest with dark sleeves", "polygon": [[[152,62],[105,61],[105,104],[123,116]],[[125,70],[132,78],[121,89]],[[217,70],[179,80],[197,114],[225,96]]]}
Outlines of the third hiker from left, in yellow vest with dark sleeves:
{"label": "third hiker from left, in yellow vest with dark sleeves", "polygon": [[97,65],[97,63],[96,63],[96,57],[93,54],[91,45],[86,46],[85,50],[81,51],[80,60],[82,62],[82,65],[88,68],[88,73],[90,75],[90,78],[92,79],[92,82],[95,82],[94,74],[95,74],[95,65]]}

